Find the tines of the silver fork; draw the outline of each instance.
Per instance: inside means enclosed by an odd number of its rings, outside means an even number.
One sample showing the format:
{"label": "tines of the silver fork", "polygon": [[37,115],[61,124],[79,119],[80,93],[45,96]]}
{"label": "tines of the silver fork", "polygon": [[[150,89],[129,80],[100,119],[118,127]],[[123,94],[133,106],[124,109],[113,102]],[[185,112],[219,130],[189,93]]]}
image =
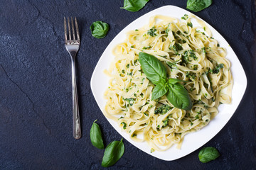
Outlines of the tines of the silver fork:
{"label": "tines of the silver fork", "polygon": [[[70,20],[71,20],[71,26],[72,26],[72,34],[71,34],[71,29],[70,29]],[[75,28],[76,28],[76,30],[75,30]],[[75,28],[74,28],[73,18],[68,17],[68,32],[67,32],[67,23],[66,23],[66,18],[64,17],[65,44],[79,44],[80,43],[78,21],[77,21],[76,17],[75,17]],[[76,32],[76,35],[75,35],[75,32]]]}

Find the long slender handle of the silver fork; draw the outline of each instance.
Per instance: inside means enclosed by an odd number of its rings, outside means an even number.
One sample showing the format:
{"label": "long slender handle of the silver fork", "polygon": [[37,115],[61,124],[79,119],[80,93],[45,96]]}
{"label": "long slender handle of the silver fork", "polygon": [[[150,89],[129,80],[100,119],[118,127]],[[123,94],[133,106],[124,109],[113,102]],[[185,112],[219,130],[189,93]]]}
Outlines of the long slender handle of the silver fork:
{"label": "long slender handle of the silver fork", "polygon": [[80,125],[80,115],[78,107],[78,89],[75,79],[75,55],[76,53],[70,52],[71,63],[72,63],[72,94],[73,94],[73,137],[75,139],[80,139],[81,137],[81,125]]}

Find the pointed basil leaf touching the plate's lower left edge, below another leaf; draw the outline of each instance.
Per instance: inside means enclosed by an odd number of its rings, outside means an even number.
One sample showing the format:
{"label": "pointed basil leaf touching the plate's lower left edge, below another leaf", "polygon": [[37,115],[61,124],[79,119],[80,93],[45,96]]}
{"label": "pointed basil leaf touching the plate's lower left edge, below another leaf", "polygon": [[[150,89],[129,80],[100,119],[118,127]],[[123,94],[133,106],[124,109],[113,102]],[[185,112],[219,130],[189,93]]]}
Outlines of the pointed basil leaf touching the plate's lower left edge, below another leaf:
{"label": "pointed basil leaf touching the plate's lower left edge, below another leaf", "polygon": [[113,141],[107,145],[102,159],[103,167],[112,166],[122,157],[124,154],[124,143],[122,140]]}

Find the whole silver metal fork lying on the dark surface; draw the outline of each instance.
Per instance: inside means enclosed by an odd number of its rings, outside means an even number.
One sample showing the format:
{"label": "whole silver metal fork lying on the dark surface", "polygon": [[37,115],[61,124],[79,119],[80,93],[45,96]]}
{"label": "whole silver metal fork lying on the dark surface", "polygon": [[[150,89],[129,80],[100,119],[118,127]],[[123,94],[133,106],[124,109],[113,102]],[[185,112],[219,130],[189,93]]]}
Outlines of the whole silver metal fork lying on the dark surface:
{"label": "whole silver metal fork lying on the dark surface", "polygon": [[[70,18],[68,17],[68,32],[67,32],[67,23],[64,17],[64,30],[65,30],[65,47],[68,50],[68,53],[71,57],[72,63],[72,91],[73,91],[73,136],[75,139],[79,139],[81,137],[81,126],[80,126],[80,115],[78,108],[78,90],[75,80],[75,56],[80,47],[80,37],[79,37],[79,29],[78,29],[78,21],[75,17],[75,28],[73,23],[73,18],[71,17],[71,26],[73,39],[71,38],[71,30],[70,30]],[[76,32],[76,36],[75,36]]]}

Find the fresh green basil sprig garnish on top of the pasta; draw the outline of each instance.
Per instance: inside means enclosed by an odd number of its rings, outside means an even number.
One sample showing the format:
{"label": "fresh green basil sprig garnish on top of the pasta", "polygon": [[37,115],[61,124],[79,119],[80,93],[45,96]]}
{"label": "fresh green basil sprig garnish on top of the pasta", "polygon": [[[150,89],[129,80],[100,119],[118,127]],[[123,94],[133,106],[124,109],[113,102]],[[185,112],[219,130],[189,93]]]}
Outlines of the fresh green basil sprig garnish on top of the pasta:
{"label": "fresh green basil sprig garnish on top of the pasta", "polygon": [[139,63],[146,78],[156,85],[152,91],[151,100],[166,94],[167,99],[174,107],[191,110],[192,102],[188,91],[178,83],[182,80],[167,79],[166,67],[153,55],[139,52]]}

